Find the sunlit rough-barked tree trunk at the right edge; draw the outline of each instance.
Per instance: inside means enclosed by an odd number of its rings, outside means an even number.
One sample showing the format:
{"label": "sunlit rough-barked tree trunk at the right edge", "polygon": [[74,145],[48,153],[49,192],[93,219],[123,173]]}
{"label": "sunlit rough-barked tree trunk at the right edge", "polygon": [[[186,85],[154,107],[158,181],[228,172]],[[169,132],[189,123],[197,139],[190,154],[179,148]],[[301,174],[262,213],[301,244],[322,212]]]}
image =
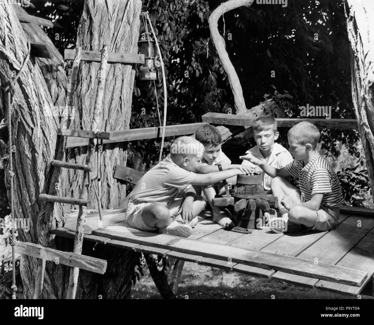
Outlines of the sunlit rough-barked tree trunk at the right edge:
{"label": "sunlit rough-barked tree trunk at the right edge", "polygon": [[352,99],[374,201],[374,2],[346,0]]}

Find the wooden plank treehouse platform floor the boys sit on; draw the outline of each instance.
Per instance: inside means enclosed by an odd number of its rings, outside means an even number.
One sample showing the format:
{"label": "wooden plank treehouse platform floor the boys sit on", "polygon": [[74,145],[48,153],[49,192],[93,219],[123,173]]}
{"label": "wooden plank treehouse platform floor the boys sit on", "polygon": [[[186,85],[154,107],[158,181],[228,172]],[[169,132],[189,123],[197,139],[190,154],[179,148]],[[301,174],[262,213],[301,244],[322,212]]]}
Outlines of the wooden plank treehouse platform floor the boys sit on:
{"label": "wooden plank treehouse platform floor the boys sit on", "polygon": [[[74,237],[77,212],[70,215],[65,227],[53,234]],[[241,234],[204,220],[188,238],[132,229],[124,210],[107,210],[103,220],[99,224],[98,214],[88,215],[85,240],[349,295],[360,294],[373,280],[374,218],[370,215],[341,213],[335,230],[290,234],[269,229]]]}

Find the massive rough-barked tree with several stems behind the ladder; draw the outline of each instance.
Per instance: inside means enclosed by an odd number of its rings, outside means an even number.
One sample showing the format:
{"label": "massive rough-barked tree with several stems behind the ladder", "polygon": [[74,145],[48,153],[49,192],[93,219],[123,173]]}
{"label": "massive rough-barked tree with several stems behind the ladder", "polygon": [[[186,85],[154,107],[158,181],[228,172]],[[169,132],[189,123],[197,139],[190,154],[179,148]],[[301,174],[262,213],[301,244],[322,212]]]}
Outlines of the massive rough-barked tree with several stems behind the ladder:
{"label": "massive rough-barked tree with several stems behind the ladder", "polygon": [[[107,0],[103,2],[85,1],[83,15],[79,25],[77,46],[83,50],[100,50],[107,44],[110,52],[137,53],[140,27],[141,1],[132,1],[121,25],[126,1]],[[65,105],[67,78],[64,73],[63,59],[52,42],[39,26],[21,24],[13,8],[7,1],[0,3],[0,81],[4,85],[12,77],[12,71],[18,71],[27,54],[27,38],[51,45],[55,57],[52,60],[34,58],[30,61],[15,84],[14,113],[12,119],[13,164],[15,176],[14,205],[15,217],[30,218],[30,232],[19,230],[22,241],[40,243],[43,228],[47,224],[45,203],[38,202],[40,193],[47,193],[49,186],[49,163],[56,149],[56,130],[59,127],[58,116],[53,116],[54,105]],[[22,9],[21,9],[22,10]],[[118,33],[116,47],[112,50]],[[89,129],[91,126],[93,104],[97,88],[99,63],[82,62],[78,74],[75,97],[76,115],[73,128]],[[134,66],[110,64],[107,69],[107,82],[103,99],[103,114],[100,128],[102,131],[128,129],[131,116],[132,88],[134,84]],[[0,107],[5,110],[2,94]],[[116,208],[126,196],[126,189],[113,179],[114,166],[126,165],[123,144],[105,145],[103,148],[102,206],[104,209]],[[67,153],[70,162],[82,163],[86,148],[74,148]],[[83,156],[82,156],[83,154]],[[7,165],[7,164],[6,164]],[[96,159],[93,164],[96,167]],[[92,173],[95,177],[96,173]],[[7,166],[6,166],[7,175]],[[67,197],[79,197],[83,173],[63,169],[58,184],[58,194]],[[9,180],[6,178],[9,184]],[[8,196],[9,196],[9,186]],[[91,191],[89,199],[95,202]],[[95,206],[97,203],[95,202]],[[72,207],[55,204],[54,227],[61,227],[66,211]],[[50,247],[72,251],[72,241],[56,237]],[[81,272],[77,298],[127,298],[130,294],[131,279],[139,254],[104,245],[92,247],[83,245],[82,254],[95,255],[108,261],[105,275]],[[23,256],[21,276],[25,297],[33,295],[35,286],[36,259]],[[64,298],[70,268],[47,262],[43,298]]]}

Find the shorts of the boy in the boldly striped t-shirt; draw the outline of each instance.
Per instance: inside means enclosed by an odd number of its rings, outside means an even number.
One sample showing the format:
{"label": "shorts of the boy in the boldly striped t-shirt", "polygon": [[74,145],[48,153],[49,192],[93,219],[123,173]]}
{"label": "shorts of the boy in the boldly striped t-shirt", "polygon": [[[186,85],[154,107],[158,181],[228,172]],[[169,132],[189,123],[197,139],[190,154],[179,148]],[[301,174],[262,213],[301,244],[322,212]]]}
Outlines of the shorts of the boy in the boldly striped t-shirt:
{"label": "shorts of the boy in the boldly striped t-shirt", "polygon": [[[292,197],[294,199],[295,204],[299,205],[304,203],[306,200],[301,194],[298,188],[295,188],[295,195]],[[335,229],[338,226],[338,220],[340,216],[340,208],[339,207],[327,207],[327,206],[320,206],[317,214],[317,221],[316,224],[312,228],[307,228],[305,226],[304,230],[316,230],[316,231],[327,231],[331,229]]]}

